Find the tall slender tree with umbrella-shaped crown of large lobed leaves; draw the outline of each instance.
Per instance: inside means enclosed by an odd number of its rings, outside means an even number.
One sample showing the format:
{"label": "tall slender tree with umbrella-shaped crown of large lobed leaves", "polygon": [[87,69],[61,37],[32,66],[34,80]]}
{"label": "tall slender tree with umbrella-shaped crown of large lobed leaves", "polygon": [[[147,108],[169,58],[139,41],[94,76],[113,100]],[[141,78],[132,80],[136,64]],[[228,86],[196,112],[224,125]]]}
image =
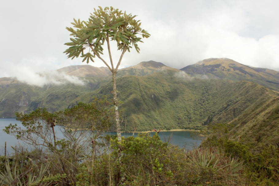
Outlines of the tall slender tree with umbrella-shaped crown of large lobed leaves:
{"label": "tall slender tree with umbrella-shaped crown of large lobed leaves", "polygon": [[[94,13],[91,13],[88,21],[75,20],[71,23],[74,28],[66,27],[71,32],[70,43],[65,45],[70,46],[64,53],[68,55],[68,58],[74,59],[75,57],[82,57],[82,62],[89,60],[94,62],[96,56],[101,59],[103,63],[109,68],[113,78],[113,104],[115,109],[115,120],[117,128],[117,139],[121,140],[120,134],[120,120],[118,112],[117,102],[117,88],[116,88],[116,74],[118,67],[121,63],[123,55],[126,51],[130,52],[130,49],[135,47],[139,53],[138,42],[143,42],[142,38],[148,38],[150,36],[144,29],[140,27],[140,20],[135,20],[136,16],[122,12],[119,9],[113,7],[105,7],[104,9],[99,6],[99,9],[94,9]],[[110,41],[117,43],[118,50],[122,51],[116,67],[113,65],[113,59],[110,50]],[[103,45],[107,44],[110,66],[101,55],[103,55]],[[84,51],[89,49],[87,53]]]}

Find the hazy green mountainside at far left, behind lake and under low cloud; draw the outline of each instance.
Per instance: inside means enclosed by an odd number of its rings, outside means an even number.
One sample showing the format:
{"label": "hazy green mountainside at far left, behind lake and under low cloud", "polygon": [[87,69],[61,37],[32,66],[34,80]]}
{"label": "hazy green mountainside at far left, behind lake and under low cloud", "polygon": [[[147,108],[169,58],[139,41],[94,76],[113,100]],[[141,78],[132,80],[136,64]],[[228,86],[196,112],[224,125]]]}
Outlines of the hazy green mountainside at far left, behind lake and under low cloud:
{"label": "hazy green mountainside at far left, behind lake and under low cloud", "polygon": [[39,107],[46,107],[51,112],[62,110],[76,97],[92,90],[73,84],[44,87],[7,84],[6,88],[0,88],[0,116],[15,117],[15,112],[31,112]]}

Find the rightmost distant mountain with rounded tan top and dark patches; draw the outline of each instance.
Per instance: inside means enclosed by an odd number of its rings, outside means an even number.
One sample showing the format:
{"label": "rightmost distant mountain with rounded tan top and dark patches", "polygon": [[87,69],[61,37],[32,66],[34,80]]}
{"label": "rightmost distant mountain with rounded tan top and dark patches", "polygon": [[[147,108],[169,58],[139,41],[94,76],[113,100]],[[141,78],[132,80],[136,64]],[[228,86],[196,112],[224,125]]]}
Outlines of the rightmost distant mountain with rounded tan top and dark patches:
{"label": "rightmost distant mountain with rounded tan top and dark patches", "polygon": [[204,74],[209,77],[233,81],[252,81],[269,89],[279,91],[279,72],[266,68],[255,68],[227,58],[210,58],[181,69],[187,74]]}

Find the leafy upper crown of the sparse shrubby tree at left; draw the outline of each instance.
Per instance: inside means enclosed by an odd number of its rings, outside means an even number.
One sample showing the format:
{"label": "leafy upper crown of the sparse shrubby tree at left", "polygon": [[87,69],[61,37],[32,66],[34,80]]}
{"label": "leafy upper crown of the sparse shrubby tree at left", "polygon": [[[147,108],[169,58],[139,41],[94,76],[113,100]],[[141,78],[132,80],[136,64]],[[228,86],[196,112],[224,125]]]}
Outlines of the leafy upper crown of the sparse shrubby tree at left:
{"label": "leafy upper crown of the sparse shrubby tree at left", "polygon": [[[78,148],[79,145],[75,145],[76,141],[86,142],[82,138],[85,138],[84,136],[89,138],[88,132],[83,134],[79,130],[87,128],[89,131],[97,131],[94,138],[98,138],[111,129],[113,109],[110,104],[104,97],[103,99],[94,98],[90,104],[80,102],[60,112],[50,113],[46,108],[37,108],[29,114],[16,112],[16,119],[21,121],[22,126],[10,124],[3,131],[35,148],[45,147],[51,152],[61,150],[61,144],[65,140],[71,144],[71,149],[73,146]],[[63,134],[62,138],[57,137],[55,125],[63,126],[59,127]]]}

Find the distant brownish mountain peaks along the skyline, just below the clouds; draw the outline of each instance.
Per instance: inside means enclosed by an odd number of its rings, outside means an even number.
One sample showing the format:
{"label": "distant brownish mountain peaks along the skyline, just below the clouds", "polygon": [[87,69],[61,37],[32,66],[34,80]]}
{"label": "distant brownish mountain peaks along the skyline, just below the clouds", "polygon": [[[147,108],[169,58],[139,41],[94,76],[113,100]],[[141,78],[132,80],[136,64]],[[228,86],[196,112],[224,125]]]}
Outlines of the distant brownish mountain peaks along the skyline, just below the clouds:
{"label": "distant brownish mountain peaks along the skyline, just below the clouds", "polygon": [[[134,66],[119,69],[117,75],[143,76],[165,69],[178,70],[170,66],[166,66],[163,63],[150,60],[140,62]],[[278,71],[247,66],[228,58],[204,59],[192,65],[185,66],[180,70],[189,75],[202,74],[210,75],[209,77],[228,78],[233,81],[254,81],[270,89],[279,91],[278,88],[274,87],[274,85],[279,85]],[[95,67],[91,65],[71,65],[60,68],[56,71],[80,78],[106,78],[111,75],[111,72],[107,67]],[[9,83],[9,81],[15,80],[16,79],[12,77],[2,77],[0,78],[0,83],[3,85],[5,82]]]}

